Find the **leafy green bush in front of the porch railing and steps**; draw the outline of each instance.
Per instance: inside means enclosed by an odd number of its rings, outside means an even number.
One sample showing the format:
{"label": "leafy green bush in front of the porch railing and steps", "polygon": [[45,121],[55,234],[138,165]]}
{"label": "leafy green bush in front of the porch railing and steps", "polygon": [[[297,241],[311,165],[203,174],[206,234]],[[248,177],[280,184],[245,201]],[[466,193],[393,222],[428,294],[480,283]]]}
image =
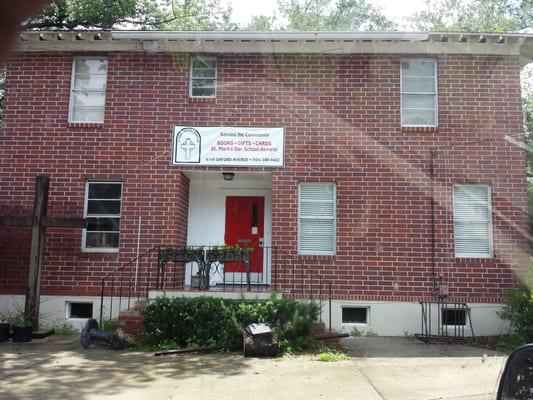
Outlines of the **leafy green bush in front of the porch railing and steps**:
{"label": "leafy green bush in front of the porch railing and steps", "polygon": [[242,347],[242,332],[254,322],[270,325],[281,351],[299,350],[310,343],[318,314],[314,303],[291,299],[227,300],[212,297],[158,298],[146,307],[144,340],[162,349],[218,344],[228,350]]}

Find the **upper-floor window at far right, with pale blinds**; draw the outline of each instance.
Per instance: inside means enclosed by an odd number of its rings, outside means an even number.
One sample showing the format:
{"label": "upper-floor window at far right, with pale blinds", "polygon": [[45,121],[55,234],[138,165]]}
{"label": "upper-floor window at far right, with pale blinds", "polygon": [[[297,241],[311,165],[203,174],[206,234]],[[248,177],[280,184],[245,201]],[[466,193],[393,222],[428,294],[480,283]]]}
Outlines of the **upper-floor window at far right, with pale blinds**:
{"label": "upper-floor window at far right, with pale blinds", "polygon": [[437,61],[403,60],[402,126],[437,126]]}

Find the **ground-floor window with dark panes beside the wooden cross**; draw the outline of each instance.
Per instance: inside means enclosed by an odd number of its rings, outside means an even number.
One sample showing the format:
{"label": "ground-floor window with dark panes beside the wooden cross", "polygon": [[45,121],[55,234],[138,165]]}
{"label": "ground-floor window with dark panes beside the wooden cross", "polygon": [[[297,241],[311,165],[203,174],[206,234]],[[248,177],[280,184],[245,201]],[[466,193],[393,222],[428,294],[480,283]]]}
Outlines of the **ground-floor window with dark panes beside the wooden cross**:
{"label": "ground-floor window with dark panes beside the wooden cross", "polygon": [[83,230],[85,251],[117,251],[120,235],[122,182],[87,182]]}

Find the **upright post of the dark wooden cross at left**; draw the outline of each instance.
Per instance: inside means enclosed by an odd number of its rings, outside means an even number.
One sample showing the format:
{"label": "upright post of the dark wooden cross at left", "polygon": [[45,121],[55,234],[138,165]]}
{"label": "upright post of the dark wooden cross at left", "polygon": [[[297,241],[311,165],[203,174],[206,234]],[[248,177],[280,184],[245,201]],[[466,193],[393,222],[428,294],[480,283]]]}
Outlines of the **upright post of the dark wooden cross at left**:
{"label": "upright post of the dark wooden cross at left", "polygon": [[41,286],[41,265],[44,246],[44,220],[48,204],[48,187],[50,179],[38,175],[35,181],[35,201],[33,203],[33,219],[31,225],[30,265],[28,270],[28,287],[24,314],[31,320],[33,330],[39,329],[39,303]]}

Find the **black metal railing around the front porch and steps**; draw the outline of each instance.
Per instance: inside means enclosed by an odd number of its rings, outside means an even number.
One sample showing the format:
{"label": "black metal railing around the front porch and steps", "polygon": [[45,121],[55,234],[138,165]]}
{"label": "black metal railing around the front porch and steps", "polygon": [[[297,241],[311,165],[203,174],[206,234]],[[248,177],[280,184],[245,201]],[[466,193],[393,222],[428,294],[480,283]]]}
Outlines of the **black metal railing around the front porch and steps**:
{"label": "black metal railing around the front porch and steps", "polygon": [[[136,300],[149,298],[151,291],[277,292],[317,301],[320,322],[329,322],[326,325],[331,328],[331,276],[317,273],[293,252],[282,253],[275,247],[253,248],[248,260],[225,262],[208,258],[207,252],[214,249],[157,246],[109,272],[101,280],[100,323],[130,310]],[[261,260],[254,254],[258,251],[262,252],[261,266],[254,265],[254,260]],[[201,265],[203,275],[198,273]],[[329,321],[323,321],[326,309]]]}

